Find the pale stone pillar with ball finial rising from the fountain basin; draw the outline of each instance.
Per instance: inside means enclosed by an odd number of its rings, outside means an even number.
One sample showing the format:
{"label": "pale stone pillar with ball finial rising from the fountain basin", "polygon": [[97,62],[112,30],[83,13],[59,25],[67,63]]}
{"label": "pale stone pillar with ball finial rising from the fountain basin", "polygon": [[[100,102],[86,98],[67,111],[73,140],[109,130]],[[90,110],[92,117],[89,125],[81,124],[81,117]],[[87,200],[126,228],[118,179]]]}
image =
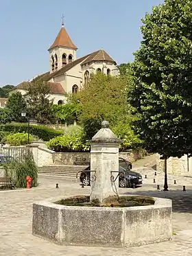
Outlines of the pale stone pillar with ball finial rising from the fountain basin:
{"label": "pale stone pillar with ball finial rising from the fountain basin", "polygon": [[110,130],[108,121],[102,121],[101,127],[91,140],[91,170],[95,170],[91,176],[96,178],[91,184],[90,200],[99,202],[108,196],[117,196],[119,178],[114,184],[111,176],[116,177],[119,171],[119,144],[122,142]]}

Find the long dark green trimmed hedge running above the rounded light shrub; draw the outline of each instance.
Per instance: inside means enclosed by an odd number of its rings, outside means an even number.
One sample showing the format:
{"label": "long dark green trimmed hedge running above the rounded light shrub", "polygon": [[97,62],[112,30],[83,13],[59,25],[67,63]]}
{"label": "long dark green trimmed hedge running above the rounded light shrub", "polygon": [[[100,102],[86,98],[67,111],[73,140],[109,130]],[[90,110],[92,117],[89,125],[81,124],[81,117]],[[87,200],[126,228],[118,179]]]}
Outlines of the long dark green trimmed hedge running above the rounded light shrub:
{"label": "long dark green trimmed hedge running above the rounded light shrub", "polygon": [[[2,132],[27,132],[27,124],[2,124],[0,125],[0,131]],[[29,133],[42,139],[43,141],[49,141],[57,136],[63,135],[63,132],[60,130],[54,130],[47,128],[45,126],[29,126]]]}

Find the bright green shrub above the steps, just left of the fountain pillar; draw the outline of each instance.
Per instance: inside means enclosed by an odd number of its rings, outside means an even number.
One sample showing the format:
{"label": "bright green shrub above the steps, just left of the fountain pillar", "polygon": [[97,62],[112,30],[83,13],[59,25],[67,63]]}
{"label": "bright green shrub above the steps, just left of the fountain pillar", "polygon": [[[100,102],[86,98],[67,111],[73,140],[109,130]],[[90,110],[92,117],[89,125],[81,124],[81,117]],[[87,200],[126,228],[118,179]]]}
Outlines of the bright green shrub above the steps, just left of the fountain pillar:
{"label": "bright green shrub above the steps, just left of the fountain pillar", "polygon": [[56,152],[82,152],[89,150],[82,128],[65,131],[64,135],[51,139],[46,143],[47,148]]}

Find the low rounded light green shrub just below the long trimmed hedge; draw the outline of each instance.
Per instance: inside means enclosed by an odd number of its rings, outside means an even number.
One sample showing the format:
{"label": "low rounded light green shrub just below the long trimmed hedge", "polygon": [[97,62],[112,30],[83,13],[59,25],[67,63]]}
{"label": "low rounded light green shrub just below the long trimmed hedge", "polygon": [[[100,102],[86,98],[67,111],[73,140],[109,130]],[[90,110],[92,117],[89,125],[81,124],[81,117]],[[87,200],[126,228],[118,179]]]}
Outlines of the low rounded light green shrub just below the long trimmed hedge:
{"label": "low rounded light green shrub just below the long trimmed hedge", "polygon": [[[25,132],[11,133],[4,138],[5,142],[10,146],[22,146],[28,143],[28,134]],[[34,141],[34,137],[29,135],[29,143]]]}

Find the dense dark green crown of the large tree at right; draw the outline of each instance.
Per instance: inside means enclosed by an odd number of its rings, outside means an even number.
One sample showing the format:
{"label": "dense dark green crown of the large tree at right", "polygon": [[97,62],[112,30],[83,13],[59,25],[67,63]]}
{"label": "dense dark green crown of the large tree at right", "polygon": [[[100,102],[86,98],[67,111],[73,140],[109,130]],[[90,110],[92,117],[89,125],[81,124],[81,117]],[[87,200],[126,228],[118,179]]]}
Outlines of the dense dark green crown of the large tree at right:
{"label": "dense dark green crown of the large tree at right", "polygon": [[149,152],[191,154],[192,1],[165,0],[146,14],[135,54],[130,103]]}

